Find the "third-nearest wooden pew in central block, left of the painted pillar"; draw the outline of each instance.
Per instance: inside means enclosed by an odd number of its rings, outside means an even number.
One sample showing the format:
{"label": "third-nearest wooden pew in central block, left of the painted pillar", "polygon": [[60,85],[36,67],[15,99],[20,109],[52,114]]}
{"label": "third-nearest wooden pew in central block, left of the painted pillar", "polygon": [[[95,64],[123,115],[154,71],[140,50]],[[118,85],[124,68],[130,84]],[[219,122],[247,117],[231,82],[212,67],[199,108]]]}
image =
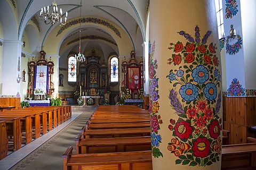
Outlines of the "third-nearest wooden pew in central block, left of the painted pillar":
{"label": "third-nearest wooden pew in central block, left of the painted pillar", "polygon": [[150,128],[126,128],[126,129],[81,129],[81,138],[120,138],[120,137],[143,137],[150,136]]}

